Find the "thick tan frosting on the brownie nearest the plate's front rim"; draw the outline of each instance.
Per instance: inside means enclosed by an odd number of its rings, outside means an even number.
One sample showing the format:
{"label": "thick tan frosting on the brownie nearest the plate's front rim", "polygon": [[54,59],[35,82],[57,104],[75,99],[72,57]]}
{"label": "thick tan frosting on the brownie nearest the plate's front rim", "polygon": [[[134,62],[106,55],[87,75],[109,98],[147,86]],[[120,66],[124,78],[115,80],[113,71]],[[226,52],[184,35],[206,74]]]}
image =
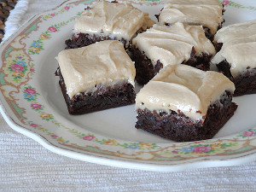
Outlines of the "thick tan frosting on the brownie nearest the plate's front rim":
{"label": "thick tan frosting on the brownie nearest the plate's front rim", "polygon": [[136,109],[166,113],[180,110],[191,119],[204,120],[210,104],[217,102],[225,90],[233,93],[235,85],[222,73],[183,64],[168,66],[137,94]]}

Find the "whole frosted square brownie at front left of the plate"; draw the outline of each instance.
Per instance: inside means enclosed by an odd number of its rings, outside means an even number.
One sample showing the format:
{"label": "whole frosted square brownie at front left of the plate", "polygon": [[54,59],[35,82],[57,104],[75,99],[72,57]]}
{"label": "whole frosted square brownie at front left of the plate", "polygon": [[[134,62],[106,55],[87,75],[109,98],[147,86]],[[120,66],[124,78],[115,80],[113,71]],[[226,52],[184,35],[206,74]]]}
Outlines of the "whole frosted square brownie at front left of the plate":
{"label": "whole frosted square brownie at front left of the plate", "polygon": [[119,41],[97,42],[57,56],[59,84],[71,114],[135,102],[135,67]]}

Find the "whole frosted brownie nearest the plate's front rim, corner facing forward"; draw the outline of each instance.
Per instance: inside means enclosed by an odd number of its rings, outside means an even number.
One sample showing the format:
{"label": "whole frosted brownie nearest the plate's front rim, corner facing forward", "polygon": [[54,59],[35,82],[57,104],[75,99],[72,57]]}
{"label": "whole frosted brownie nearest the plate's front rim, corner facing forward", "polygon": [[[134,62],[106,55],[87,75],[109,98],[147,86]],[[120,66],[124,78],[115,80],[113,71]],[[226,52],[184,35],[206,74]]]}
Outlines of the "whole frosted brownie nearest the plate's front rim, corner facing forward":
{"label": "whole frosted brownie nearest the plate's front rim, corner facing forward", "polygon": [[177,142],[212,138],[236,111],[222,73],[165,67],[137,94],[136,128]]}

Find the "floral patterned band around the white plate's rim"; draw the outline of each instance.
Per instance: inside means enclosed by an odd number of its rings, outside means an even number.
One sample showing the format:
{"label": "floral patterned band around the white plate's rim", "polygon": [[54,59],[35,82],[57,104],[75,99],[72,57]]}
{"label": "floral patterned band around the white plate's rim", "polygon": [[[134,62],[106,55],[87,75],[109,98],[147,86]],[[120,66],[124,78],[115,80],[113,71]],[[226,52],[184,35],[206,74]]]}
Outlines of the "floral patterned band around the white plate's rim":
{"label": "floral patterned band around the white plate's rim", "polygon": [[[160,0],[131,1],[139,6],[160,6]],[[61,7],[44,15],[37,15],[20,32],[2,46],[2,67],[0,69],[0,96],[8,116],[14,119],[20,130],[31,131],[44,138],[52,146],[65,148],[79,154],[106,156],[110,159],[136,160],[136,162],[166,165],[181,164],[182,160],[217,160],[243,157],[256,151],[256,129],[248,129],[239,134],[196,141],[191,143],[144,143],[102,137],[91,131],[76,130],[60,121],[51,113],[49,103],[44,102],[44,93],[38,90],[34,80],[40,73],[38,57],[49,49],[49,41],[65,30],[81,14],[81,9],[93,1],[67,1]],[[235,1],[223,1],[227,9],[251,9],[253,6],[240,6]],[[256,9],[255,9],[256,10]],[[62,20],[62,15],[67,20]],[[58,18],[58,19],[56,19]],[[50,21],[49,21],[50,20]],[[58,20],[58,21],[57,21]],[[57,117],[56,117],[57,116]],[[218,158],[221,157],[221,158]],[[205,158],[205,159],[201,159]]]}

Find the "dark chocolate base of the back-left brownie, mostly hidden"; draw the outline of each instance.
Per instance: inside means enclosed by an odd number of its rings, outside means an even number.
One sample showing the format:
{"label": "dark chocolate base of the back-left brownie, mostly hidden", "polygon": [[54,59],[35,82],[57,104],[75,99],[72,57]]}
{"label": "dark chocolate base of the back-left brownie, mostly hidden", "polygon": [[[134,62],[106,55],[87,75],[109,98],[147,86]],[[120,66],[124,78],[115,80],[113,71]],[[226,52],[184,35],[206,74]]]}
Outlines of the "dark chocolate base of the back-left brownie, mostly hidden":
{"label": "dark chocolate base of the back-left brownie, mostly hidden", "polygon": [[[73,34],[71,39],[67,39],[65,41],[65,44],[67,47],[65,49],[75,49],[75,48],[80,48],[84,46],[88,46],[90,44],[94,44],[99,41],[104,41],[104,40],[119,40],[115,37],[110,37],[106,36],[104,34],[96,35],[96,34],[84,34],[84,33],[79,33],[77,35]],[[122,44],[126,44],[126,40],[124,38],[121,38],[119,40]]]}

